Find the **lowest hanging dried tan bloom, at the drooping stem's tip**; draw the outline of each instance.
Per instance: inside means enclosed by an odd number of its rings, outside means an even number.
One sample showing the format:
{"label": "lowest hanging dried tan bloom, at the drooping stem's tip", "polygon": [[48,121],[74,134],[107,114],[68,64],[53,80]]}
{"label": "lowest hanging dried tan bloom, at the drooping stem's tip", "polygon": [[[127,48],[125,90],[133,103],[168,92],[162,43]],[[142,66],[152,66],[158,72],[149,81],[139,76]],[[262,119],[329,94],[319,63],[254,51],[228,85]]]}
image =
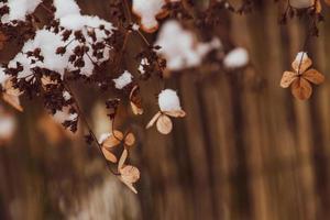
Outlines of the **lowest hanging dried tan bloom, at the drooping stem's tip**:
{"label": "lowest hanging dried tan bloom, at the drooping stem's tip", "polygon": [[135,166],[124,165],[129,152],[124,150],[118,163],[119,179],[124,183],[133,193],[138,194],[133,184],[140,179],[140,170]]}

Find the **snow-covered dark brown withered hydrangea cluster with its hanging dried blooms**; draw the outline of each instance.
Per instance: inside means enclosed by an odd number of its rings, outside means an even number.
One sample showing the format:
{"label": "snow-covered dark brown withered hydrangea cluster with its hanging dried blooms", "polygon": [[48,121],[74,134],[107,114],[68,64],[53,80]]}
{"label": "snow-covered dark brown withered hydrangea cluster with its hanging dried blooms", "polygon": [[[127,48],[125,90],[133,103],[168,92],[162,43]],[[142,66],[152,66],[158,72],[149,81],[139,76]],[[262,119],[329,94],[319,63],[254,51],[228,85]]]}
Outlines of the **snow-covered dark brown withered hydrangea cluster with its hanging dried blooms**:
{"label": "snow-covered dark brown withered hydrangea cluster with its hanging dried blooms", "polygon": [[[222,45],[212,31],[206,33],[204,30],[221,25],[224,12],[249,13],[254,7],[252,0],[243,0],[240,8],[234,8],[227,0],[210,1],[208,8],[202,10],[189,0],[113,0],[109,3],[111,21],[82,15],[75,0],[32,0],[31,4],[21,6],[23,14],[14,13],[11,8],[16,6],[15,1],[0,2],[0,50],[8,42],[16,43],[21,48],[15,57],[0,66],[2,100],[23,111],[21,97],[38,98],[51,114],[66,112],[67,117],[62,124],[73,132],[77,131],[81,122],[88,129],[85,136],[87,143],[99,147],[109,170],[134,193],[136,189],[133,184],[139,180],[140,172],[127,161],[136,138],[129,129],[127,132],[119,131],[114,123],[119,106],[124,102],[122,100],[129,101],[135,116],[150,113],[143,108],[140,82],[161,81],[162,87],[155,97],[160,110],[146,129],[156,124],[160,133],[168,134],[173,129],[172,118],[184,118],[186,112],[180,106],[177,91],[165,87],[166,73],[206,64],[216,66],[212,73],[219,69],[232,72],[250,63],[246,50]],[[312,33],[308,34],[306,41],[318,34],[317,24],[322,21],[319,0],[310,4],[296,4],[295,0],[284,3],[287,8],[280,23],[286,23],[288,18],[306,15]],[[46,14],[46,19],[38,18],[35,12],[37,7]],[[170,21],[160,25],[165,18]],[[204,42],[199,42],[189,25],[195,31],[200,30],[199,35],[205,34]],[[145,33],[154,33],[160,26],[158,40],[156,43],[150,42]],[[123,63],[132,35],[139,36],[142,42],[134,57],[138,69],[128,69]],[[180,41],[176,42],[175,37]],[[168,41],[172,42],[167,44]],[[208,56],[213,53],[217,56]],[[205,57],[208,57],[207,62]],[[295,97],[307,99],[311,95],[308,81],[320,84],[323,78],[320,73],[309,69],[311,63],[305,63],[310,59],[302,57],[295,61],[295,73],[285,73],[280,85],[285,88],[292,85]],[[72,89],[72,85],[77,81],[118,95],[105,101],[109,133],[100,139],[94,133]]]}

